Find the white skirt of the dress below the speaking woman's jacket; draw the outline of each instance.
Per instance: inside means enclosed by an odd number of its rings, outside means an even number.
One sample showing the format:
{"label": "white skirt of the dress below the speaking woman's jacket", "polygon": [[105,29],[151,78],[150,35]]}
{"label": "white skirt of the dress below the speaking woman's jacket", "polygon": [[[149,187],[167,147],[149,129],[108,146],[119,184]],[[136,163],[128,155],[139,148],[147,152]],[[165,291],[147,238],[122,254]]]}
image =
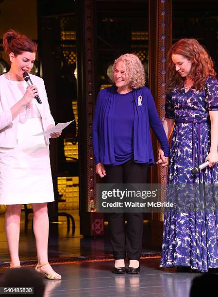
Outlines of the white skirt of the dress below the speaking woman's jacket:
{"label": "white skirt of the dress below the speaking woman's jacket", "polygon": [[18,124],[17,146],[0,147],[0,204],[31,204],[54,201],[49,146],[41,118]]}

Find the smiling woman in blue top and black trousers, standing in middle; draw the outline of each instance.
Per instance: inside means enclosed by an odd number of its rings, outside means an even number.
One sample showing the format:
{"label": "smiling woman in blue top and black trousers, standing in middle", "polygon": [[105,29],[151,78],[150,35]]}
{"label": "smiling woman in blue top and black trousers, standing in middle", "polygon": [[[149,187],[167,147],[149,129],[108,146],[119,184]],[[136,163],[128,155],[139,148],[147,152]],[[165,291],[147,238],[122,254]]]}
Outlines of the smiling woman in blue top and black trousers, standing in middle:
{"label": "smiling woman in blue top and black trousers, standing in middle", "polygon": [[[148,165],[154,164],[150,125],[163,149],[163,166],[168,165],[169,146],[136,55],[124,54],[115,60],[113,81],[114,86],[99,92],[93,118],[96,173],[104,178],[104,183],[146,183]],[[127,251],[127,272],[139,273],[143,214],[112,213],[109,228],[115,259],[113,272],[125,273]]]}

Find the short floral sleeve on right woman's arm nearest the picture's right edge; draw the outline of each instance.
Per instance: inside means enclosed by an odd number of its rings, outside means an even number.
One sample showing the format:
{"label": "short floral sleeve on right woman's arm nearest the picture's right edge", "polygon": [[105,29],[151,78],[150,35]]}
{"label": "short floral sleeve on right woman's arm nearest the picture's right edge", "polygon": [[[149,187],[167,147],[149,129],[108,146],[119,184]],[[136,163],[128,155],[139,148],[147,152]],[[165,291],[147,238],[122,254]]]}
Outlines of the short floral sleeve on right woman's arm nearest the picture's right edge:
{"label": "short floral sleeve on right woman's arm nearest the picture's right edge", "polygon": [[208,110],[218,110],[218,80],[209,77],[206,80],[206,107]]}

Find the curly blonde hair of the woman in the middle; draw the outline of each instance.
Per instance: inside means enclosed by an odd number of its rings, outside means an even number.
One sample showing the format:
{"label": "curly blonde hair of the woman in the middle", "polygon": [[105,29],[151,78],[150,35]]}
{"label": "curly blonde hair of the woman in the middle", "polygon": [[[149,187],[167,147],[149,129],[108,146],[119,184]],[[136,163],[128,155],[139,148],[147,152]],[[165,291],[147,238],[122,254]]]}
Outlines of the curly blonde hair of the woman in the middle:
{"label": "curly blonde hair of the woman in the middle", "polygon": [[142,66],[141,61],[136,55],[129,53],[119,56],[114,61],[114,65],[112,66],[112,82],[114,82],[114,72],[118,61],[122,61],[123,64],[126,66],[127,81],[130,83],[131,88],[137,89],[145,85],[144,67]]}

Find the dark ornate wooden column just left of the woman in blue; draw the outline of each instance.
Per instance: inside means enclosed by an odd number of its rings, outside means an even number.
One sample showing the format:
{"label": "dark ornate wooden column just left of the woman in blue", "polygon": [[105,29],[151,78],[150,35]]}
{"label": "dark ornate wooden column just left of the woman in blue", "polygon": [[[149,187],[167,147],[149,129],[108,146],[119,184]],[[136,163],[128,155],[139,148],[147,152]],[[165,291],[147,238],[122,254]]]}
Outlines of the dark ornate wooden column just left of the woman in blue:
{"label": "dark ornate wooden column just left of the woman in blue", "polygon": [[79,136],[80,232],[103,235],[103,214],[96,210],[96,174],[92,148],[92,119],[96,99],[95,0],[77,0],[77,99]]}

